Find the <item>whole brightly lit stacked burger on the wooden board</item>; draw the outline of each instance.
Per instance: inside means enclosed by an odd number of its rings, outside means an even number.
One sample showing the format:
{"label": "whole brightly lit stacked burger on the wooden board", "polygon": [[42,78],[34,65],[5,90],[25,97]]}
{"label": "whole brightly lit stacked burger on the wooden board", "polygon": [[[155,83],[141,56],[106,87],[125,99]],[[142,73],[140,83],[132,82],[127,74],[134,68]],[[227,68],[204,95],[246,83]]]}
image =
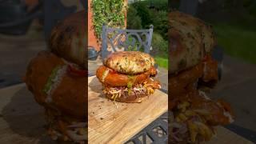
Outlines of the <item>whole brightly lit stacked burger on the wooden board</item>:
{"label": "whole brightly lit stacked burger on the wooden board", "polygon": [[142,102],[161,88],[160,82],[153,79],[156,74],[154,58],[140,51],[109,54],[96,71],[103,94],[114,102]]}

